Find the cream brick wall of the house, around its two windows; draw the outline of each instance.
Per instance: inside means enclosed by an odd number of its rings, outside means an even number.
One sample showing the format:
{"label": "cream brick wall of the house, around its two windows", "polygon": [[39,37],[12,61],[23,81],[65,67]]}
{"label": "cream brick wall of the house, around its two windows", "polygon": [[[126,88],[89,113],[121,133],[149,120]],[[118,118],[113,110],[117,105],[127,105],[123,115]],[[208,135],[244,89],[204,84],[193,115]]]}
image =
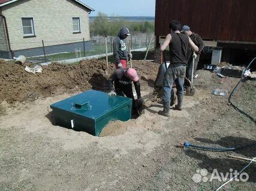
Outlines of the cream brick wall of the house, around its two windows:
{"label": "cream brick wall of the house, around its two windows", "polygon": [[[20,0],[2,7],[12,50],[79,42],[89,35],[89,10],[72,0]],[[22,17],[33,17],[36,37],[23,38]],[[73,17],[80,17],[81,33],[73,34]]]}

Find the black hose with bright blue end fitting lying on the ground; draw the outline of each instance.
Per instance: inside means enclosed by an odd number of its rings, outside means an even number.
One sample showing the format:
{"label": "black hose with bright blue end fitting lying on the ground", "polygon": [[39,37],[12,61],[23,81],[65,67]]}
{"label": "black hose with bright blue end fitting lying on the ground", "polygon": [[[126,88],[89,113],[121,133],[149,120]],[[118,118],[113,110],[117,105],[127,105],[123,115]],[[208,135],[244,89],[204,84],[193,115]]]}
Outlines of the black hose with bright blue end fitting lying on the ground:
{"label": "black hose with bright blue end fitting lying on the ground", "polygon": [[200,150],[209,150],[209,151],[215,151],[215,152],[227,152],[227,151],[245,149],[246,147],[256,146],[256,143],[252,143],[252,144],[248,144],[246,146],[240,146],[240,147],[204,147],[204,146],[190,144],[189,142],[186,141],[183,144],[183,146],[187,147],[187,148],[189,147],[189,148],[200,149]]}

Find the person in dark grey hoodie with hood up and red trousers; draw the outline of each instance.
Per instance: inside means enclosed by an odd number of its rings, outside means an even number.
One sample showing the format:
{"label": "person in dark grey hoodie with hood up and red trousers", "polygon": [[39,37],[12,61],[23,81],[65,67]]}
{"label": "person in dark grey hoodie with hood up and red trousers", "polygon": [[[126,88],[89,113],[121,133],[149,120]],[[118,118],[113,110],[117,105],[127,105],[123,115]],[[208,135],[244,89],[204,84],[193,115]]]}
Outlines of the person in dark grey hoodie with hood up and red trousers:
{"label": "person in dark grey hoodie with hood up and red trousers", "polygon": [[115,58],[116,69],[127,68],[128,57],[132,58],[132,54],[128,54],[125,39],[129,36],[127,27],[122,27],[118,35],[113,41],[113,56]]}

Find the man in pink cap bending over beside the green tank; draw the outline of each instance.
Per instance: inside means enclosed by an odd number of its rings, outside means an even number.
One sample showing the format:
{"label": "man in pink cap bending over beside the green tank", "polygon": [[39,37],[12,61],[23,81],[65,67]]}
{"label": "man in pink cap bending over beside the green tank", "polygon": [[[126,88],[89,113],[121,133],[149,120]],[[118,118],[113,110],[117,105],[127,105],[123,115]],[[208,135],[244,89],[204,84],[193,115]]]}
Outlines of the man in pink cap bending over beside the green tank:
{"label": "man in pink cap bending over beside the green tank", "polygon": [[[110,93],[109,96],[126,96],[132,98],[132,111],[134,115],[140,115],[143,100],[140,94],[140,82],[138,81],[138,75],[136,70],[129,69],[117,69],[109,80]],[[137,94],[137,100],[134,99],[132,92],[132,82]],[[115,88],[114,85],[115,84]]]}

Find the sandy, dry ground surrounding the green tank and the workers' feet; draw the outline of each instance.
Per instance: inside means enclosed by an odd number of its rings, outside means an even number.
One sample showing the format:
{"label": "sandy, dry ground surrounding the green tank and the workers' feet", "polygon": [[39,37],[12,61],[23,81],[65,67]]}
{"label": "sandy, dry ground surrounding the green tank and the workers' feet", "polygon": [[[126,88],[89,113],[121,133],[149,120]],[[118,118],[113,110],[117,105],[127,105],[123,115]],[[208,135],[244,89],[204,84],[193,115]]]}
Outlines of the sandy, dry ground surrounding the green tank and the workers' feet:
{"label": "sandy, dry ground surrounding the green tank and the workers' feet", "polygon": [[[137,70],[142,66],[147,65],[135,64]],[[152,101],[156,72],[140,73],[144,114],[110,122],[101,137],[54,125],[49,105],[81,90],[58,93],[56,88],[52,96],[34,101],[2,101],[0,190],[215,190],[224,182],[195,183],[197,170],[205,168],[210,178],[214,169],[226,173],[247,164],[227,155],[256,156],[255,147],[225,153],[177,147],[184,141],[218,147],[256,142],[254,122],[234,110],[227,96],[210,94],[213,88],[230,92],[239,79],[223,81],[199,70],[195,96],[185,96],[184,109],[165,118],[157,114],[161,104]],[[234,100],[248,101],[241,105],[255,115],[255,81],[246,85]],[[254,96],[246,97],[246,91]],[[255,164],[246,172],[248,181],[233,181],[223,190],[256,190]]]}

